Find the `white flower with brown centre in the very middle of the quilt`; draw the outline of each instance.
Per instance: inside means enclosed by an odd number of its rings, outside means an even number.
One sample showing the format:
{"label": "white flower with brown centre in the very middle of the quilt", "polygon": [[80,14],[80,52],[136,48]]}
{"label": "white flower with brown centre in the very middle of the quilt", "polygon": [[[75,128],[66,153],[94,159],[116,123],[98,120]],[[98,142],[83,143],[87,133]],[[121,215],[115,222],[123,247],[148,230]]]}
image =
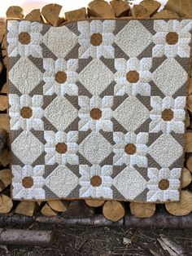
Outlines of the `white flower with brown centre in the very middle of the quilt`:
{"label": "white flower with brown centre in the very middle of the quilt", "polygon": [[[99,96],[93,96],[91,99],[87,96],[79,96],[79,130],[105,130],[112,131],[113,124],[111,122],[112,113],[111,107],[113,105],[112,96],[104,96],[101,99]],[[101,116],[98,119],[94,118],[94,112],[100,112]]]}

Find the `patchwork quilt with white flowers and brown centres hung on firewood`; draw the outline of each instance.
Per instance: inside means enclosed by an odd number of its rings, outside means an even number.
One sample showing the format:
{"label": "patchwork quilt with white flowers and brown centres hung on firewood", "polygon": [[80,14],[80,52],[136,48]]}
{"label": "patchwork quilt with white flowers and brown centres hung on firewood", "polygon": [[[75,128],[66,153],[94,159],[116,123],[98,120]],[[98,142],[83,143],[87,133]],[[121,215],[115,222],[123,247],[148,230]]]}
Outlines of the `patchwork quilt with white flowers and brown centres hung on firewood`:
{"label": "patchwork quilt with white flowers and brown centres hung on firewood", "polygon": [[12,197],[178,201],[191,32],[8,20]]}

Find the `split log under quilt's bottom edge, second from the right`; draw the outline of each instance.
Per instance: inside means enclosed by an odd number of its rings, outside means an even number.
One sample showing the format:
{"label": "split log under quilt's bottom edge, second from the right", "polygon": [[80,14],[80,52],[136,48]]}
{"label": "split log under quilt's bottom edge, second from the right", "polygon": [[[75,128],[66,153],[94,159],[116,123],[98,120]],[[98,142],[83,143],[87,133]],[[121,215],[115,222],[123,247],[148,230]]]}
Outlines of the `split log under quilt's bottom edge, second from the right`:
{"label": "split log under quilt's bottom edge, second from the right", "polygon": [[150,218],[155,214],[155,207],[155,204],[130,203],[131,213],[137,218]]}

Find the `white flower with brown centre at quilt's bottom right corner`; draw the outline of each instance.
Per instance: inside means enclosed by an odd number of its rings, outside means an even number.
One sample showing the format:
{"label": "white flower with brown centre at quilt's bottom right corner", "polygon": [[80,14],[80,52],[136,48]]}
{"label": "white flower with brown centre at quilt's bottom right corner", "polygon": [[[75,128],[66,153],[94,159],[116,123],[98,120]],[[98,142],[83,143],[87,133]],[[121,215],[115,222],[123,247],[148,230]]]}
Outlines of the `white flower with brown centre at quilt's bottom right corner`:
{"label": "white flower with brown centre at quilt's bottom right corner", "polygon": [[[149,181],[147,182],[147,201],[178,201],[179,200],[179,188],[181,168],[174,168],[169,170],[168,168],[162,168],[160,170],[156,168],[148,169]],[[161,189],[160,183],[165,181],[166,187]],[[159,188],[160,187],[160,188]]]}

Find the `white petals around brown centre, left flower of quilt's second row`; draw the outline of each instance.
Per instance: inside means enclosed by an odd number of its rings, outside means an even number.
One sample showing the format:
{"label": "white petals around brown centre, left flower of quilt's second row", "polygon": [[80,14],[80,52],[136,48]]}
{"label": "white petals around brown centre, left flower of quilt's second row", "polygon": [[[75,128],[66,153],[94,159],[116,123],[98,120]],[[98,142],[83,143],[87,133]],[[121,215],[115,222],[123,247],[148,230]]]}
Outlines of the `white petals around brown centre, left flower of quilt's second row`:
{"label": "white petals around brown centre, left flower of quilt's second row", "polygon": [[[63,59],[57,59],[56,61],[49,58],[43,59],[43,68],[46,72],[43,74],[43,80],[46,84],[43,86],[44,95],[77,95],[78,87],[76,81],[78,75],[76,69],[78,68],[78,60],[70,59],[65,61]],[[55,75],[58,72],[65,73],[67,76],[66,81],[57,82]]]}

